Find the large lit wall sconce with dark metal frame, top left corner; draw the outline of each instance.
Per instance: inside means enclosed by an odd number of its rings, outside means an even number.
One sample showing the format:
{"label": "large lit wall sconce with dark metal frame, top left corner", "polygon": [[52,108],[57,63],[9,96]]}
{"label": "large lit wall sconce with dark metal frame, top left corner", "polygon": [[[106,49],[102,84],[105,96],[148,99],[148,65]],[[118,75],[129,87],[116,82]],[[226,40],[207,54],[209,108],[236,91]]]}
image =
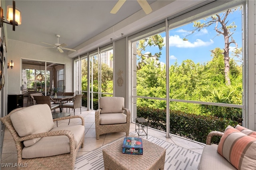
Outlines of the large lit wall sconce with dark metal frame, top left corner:
{"label": "large lit wall sconce with dark metal frame, top left corner", "polygon": [[[15,9],[15,10],[13,10]],[[15,1],[12,1],[12,6],[7,6],[7,13],[6,13],[6,21],[4,21],[4,15],[3,15],[3,8],[0,7],[0,28],[3,26],[3,23],[7,23],[12,25],[12,30],[15,31],[15,26],[18,26],[21,24],[21,11],[20,9],[16,8]]]}

